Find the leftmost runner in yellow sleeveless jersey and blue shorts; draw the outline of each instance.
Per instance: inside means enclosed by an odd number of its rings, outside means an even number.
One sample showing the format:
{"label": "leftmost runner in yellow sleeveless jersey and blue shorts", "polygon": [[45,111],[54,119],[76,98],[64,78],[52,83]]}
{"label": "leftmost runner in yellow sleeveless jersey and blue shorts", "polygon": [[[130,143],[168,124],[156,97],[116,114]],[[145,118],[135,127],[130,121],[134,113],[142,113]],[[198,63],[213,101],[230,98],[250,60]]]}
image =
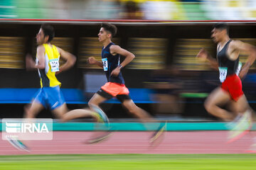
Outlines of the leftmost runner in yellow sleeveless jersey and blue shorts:
{"label": "leftmost runner in yellow sleeveless jersey and blue shorts", "polygon": [[[62,50],[60,47],[51,45],[53,40],[54,29],[52,26],[43,24],[36,35],[38,44],[36,52],[36,62],[28,55],[26,56],[26,68],[38,69],[38,74],[41,78],[41,89],[38,91],[36,98],[30,106],[25,108],[25,118],[36,118],[36,115],[43,108],[50,108],[57,118],[63,122],[73,119],[68,114],[68,107],[60,91],[60,81],[55,77],[56,73],[70,69],[75,64],[75,56]],[[60,57],[66,61],[61,67],[59,66]],[[100,121],[101,115],[90,110],[84,110],[83,117],[92,117]],[[11,145],[18,149],[28,150],[28,147],[18,139],[10,138]]]}

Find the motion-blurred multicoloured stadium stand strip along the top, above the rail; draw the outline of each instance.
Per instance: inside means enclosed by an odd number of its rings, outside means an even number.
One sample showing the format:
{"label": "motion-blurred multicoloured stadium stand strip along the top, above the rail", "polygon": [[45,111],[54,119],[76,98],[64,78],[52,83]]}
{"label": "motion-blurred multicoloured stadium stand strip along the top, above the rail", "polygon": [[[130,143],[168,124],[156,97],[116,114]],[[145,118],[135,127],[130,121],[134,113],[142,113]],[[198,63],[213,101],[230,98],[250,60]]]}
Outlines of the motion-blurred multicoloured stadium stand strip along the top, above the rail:
{"label": "motion-blurred multicoloured stadium stand strip along the top, above the rail", "polygon": [[254,0],[1,0],[0,18],[254,20]]}

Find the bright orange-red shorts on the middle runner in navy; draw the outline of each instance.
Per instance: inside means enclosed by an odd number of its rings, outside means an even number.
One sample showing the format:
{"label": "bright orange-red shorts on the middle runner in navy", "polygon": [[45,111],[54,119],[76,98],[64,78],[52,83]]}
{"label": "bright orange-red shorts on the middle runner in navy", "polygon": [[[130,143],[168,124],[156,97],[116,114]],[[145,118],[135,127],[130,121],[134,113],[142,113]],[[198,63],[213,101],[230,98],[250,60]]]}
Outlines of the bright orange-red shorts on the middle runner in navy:
{"label": "bright orange-red shorts on the middle runner in navy", "polygon": [[101,89],[106,91],[107,94],[110,94],[113,97],[117,95],[129,95],[129,90],[124,84],[107,82],[104,86],[101,87]]}

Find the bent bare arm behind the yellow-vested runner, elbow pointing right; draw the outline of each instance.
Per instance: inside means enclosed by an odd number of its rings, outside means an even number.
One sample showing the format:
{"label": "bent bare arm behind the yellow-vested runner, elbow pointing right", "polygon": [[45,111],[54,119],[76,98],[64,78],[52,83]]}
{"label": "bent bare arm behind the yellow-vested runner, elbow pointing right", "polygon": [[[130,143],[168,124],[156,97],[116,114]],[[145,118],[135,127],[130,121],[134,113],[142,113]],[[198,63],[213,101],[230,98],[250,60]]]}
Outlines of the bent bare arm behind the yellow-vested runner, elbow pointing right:
{"label": "bent bare arm behind the yellow-vested runner, elbow pointing right", "polygon": [[73,67],[73,65],[75,64],[75,61],[76,61],[76,57],[75,55],[72,55],[70,52],[67,52],[63,49],[61,49],[60,47],[57,47],[58,49],[58,52],[60,53],[60,57],[62,57],[66,62],[65,64],[63,64],[61,67],[60,67],[60,72],[63,72],[67,69],[70,69],[70,67]]}

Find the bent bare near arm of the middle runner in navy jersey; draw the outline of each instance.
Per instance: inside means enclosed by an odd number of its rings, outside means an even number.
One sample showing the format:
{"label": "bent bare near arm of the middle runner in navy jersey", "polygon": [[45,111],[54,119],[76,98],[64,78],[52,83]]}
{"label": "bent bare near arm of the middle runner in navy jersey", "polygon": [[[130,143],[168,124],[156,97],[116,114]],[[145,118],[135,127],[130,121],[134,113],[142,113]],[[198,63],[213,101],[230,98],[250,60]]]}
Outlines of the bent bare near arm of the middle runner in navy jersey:
{"label": "bent bare near arm of the middle runner in navy jersey", "polygon": [[132,54],[132,52],[129,52],[127,50],[124,50],[122,47],[119,47],[119,45],[111,45],[110,46],[110,53],[112,55],[122,55],[125,57],[124,61],[120,64],[120,67],[115,68],[111,75],[113,76],[118,76],[120,69],[124,66],[126,66],[127,64],[129,64],[130,62],[132,62],[132,60],[134,59],[135,55]]}

